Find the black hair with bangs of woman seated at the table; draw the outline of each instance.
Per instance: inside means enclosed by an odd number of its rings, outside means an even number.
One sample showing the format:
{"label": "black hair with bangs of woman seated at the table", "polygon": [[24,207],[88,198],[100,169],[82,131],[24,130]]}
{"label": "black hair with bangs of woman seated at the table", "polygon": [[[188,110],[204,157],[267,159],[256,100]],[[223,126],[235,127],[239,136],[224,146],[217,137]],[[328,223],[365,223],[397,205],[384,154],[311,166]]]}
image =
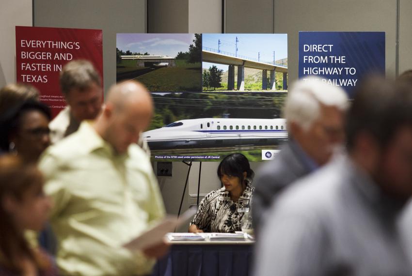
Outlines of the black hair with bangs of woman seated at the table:
{"label": "black hair with bangs of woman seated at the table", "polygon": [[254,171],[250,168],[249,160],[241,153],[232,153],[223,158],[218,167],[218,177],[222,178],[223,174],[236,176],[243,183],[243,172],[246,171],[246,178],[252,181]]}

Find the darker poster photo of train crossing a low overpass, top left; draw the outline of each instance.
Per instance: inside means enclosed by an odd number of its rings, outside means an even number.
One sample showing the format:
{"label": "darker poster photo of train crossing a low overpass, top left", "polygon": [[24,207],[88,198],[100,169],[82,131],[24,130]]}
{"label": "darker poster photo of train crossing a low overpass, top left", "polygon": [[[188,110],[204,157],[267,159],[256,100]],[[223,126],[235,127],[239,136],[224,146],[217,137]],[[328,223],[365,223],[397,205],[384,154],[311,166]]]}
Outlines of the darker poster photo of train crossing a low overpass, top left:
{"label": "darker poster photo of train crossing a low overpass, top left", "polygon": [[150,92],[202,90],[201,34],[118,33],[116,80],[134,79]]}

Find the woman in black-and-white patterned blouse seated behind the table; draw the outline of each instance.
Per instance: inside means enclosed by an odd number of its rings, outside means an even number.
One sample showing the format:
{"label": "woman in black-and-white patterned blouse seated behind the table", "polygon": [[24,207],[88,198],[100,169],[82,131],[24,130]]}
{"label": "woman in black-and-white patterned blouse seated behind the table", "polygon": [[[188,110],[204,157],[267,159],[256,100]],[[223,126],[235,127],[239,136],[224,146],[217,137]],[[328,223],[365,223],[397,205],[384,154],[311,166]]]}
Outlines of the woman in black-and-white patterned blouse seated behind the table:
{"label": "woman in black-and-white patterned blouse seated behind the table", "polygon": [[210,192],[202,200],[190,222],[189,232],[241,231],[243,212],[249,211],[251,205],[253,176],[254,172],[243,154],[227,155],[218,167],[218,177],[224,187]]}

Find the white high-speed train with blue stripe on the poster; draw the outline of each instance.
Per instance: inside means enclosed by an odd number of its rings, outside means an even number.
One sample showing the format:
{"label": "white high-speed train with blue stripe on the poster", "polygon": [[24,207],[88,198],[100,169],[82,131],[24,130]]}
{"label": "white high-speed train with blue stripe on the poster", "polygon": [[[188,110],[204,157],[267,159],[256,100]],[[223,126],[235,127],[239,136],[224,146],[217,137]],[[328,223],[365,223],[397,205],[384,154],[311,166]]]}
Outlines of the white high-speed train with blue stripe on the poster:
{"label": "white high-speed train with blue stripe on the poster", "polygon": [[143,133],[150,149],[277,145],[287,140],[285,119],[180,120]]}

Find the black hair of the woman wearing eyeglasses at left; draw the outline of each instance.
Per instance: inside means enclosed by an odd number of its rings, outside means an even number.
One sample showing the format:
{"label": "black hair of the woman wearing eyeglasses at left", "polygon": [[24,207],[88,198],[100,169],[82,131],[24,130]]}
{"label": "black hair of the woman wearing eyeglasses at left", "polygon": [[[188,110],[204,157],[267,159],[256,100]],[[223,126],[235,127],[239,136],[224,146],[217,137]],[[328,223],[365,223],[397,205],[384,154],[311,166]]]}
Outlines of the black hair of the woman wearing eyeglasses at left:
{"label": "black hair of the woman wearing eyeglasses at left", "polygon": [[40,111],[48,120],[51,120],[50,108],[37,101],[28,100],[14,107],[10,107],[0,118],[0,149],[9,150],[10,135],[16,133],[21,125],[21,117],[28,111]]}

